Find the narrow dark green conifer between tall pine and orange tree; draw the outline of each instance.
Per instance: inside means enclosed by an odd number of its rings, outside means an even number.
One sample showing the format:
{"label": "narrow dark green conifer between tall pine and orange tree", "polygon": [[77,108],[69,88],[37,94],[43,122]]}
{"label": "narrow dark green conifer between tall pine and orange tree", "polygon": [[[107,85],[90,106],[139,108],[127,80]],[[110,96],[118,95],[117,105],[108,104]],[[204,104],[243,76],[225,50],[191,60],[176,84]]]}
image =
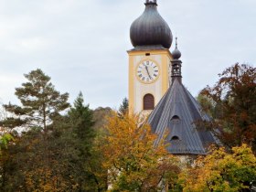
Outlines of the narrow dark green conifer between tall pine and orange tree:
{"label": "narrow dark green conifer between tall pine and orange tree", "polygon": [[93,129],[93,112],[83,104],[80,92],[68,113],[71,127],[73,151],[77,154],[72,176],[77,182],[78,191],[104,191],[106,180],[101,178],[101,155],[94,150],[96,130]]}

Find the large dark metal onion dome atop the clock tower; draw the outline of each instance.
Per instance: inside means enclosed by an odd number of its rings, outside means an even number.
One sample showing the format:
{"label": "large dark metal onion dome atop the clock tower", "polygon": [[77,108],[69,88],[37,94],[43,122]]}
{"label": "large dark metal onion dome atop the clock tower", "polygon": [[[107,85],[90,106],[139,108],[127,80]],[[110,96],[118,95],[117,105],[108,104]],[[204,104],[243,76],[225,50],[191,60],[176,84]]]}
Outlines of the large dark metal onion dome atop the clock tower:
{"label": "large dark metal onion dome atop the clock tower", "polygon": [[133,47],[161,45],[170,48],[173,35],[162,16],[157,11],[156,0],[146,0],[142,16],[138,17],[130,28]]}

